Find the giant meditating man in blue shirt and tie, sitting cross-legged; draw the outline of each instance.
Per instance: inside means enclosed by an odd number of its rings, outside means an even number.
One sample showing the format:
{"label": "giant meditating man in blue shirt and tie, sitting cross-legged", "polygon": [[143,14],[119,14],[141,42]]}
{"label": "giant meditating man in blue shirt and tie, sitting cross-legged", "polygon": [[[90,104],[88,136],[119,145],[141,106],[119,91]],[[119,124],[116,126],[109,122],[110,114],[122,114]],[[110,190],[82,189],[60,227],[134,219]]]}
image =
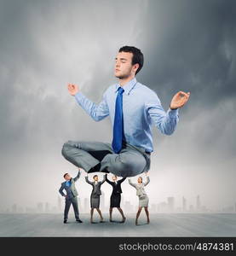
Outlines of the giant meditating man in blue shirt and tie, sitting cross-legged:
{"label": "giant meditating man in blue shirt and tie, sitting cross-legged", "polygon": [[171,135],[179,120],[179,108],[185,105],[190,92],[177,92],[165,112],[157,94],[135,79],[142,66],[140,49],[120,48],[114,65],[118,83],[105,90],[99,104],[84,96],[77,84],[67,85],[69,93],[92,119],[101,121],[110,116],[113,138],[112,143],[67,141],[61,150],[66,160],[85,172],[112,172],[118,177],[134,177],[150,169],[152,125]]}

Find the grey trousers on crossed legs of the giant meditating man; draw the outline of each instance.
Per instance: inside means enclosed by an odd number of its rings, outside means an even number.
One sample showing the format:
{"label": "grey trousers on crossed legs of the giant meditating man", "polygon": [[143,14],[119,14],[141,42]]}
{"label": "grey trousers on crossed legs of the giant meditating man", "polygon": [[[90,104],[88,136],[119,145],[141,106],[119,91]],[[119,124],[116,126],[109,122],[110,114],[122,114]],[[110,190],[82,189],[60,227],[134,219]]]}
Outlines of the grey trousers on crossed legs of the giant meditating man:
{"label": "grey trousers on crossed legs of the giant meditating man", "polygon": [[147,172],[151,161],[151,155],[144,148],[129,143],[115,154],[111,143],[68,141],[64,143],[61,154],[85,172],[101,163],[100,172],[112,172],[118,177],[134,177]]}

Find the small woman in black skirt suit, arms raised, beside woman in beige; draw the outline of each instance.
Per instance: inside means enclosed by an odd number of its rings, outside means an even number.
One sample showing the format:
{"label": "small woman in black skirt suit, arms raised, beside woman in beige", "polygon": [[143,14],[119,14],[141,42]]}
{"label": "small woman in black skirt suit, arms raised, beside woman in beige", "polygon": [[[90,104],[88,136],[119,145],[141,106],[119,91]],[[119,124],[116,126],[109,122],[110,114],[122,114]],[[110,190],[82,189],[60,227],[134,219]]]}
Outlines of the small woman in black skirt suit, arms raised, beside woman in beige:
{"label": "small woman in black skirt suit, arms raised, beside woman in beige", "polygon": [[120,212],[121,216],[122,216],[122,221],[120,223],[124,223],[125,221],[125,217],[124,217],[124,212],[122,211],[121,207],[120,207],[120,200],[121,200],[121,183],[124,182],[126,177],[123,177],[122,179],[118,180],[118,177],[116,175],[112,176],[112,180],[113,182],[111,182],[108,178],[107,178],[107,174],[106,174],[106,182],[109,183],[110,185],[112,185],[112,195],[110,198],[110,209],[109,209],[109,213],[110,213],[110,222],[112,222],[112,210],[114,207],[118,208],[118,211]]}

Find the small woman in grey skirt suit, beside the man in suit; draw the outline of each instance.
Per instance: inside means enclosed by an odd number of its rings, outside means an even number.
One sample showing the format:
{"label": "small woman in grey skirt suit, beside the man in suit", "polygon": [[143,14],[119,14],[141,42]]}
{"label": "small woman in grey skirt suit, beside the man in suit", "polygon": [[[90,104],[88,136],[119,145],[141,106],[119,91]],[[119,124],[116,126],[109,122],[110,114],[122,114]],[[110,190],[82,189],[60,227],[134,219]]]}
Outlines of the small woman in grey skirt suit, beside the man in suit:
{"label": "small woman in grey skirt suit, beside the man in suit", "polygon": [[94,182],[90,182],[88,175],[85,177],[85,180],[87,183],[89,183],[90,185],[93,186],[93,190],[92,193],[90,195],[90,206],[91,206],[91,218],[90,218],[90,223],[94,224],[95,222],[93,221],[93,215],[94,215],[94,210],[96,209],[97,212],[100,215],[101,221],[100,222],[104,222],[103,221],[103,217],[101,215],[101,210],[99,209],[100,206],[100,195],[101,195],[101,184],[104,183],[106,181],[106,176],[103,176],[103,180],[100,182],[98,181],[98,176],[95,175],[93,177]]}

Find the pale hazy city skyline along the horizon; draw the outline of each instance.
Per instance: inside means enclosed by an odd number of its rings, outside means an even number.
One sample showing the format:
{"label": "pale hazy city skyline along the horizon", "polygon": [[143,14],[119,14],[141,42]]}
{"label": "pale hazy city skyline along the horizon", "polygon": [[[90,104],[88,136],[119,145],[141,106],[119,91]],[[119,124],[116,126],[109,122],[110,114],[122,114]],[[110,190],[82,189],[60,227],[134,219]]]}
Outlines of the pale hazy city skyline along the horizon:
{"label": "pale hazy city skyline along the horizon", "polygon": [[[105,200],[105,194],[101,191],[101,212],[108,212],[109,201]],[[136,201],[138,203],[138,201]],[[78,208],[81,213],[89,213],[90,202],[88,197],[80,198],[78,196]],[[126,213],[135,213],[137,211],[138,205],[125,200],[124,195],[121,197],[121,207]],[[151,213],[213,213],[213,212],[235,212],[236,213],[236,202],[233,206],[222,206],[217,210],[210,209],[201,203],[200,195],[196,196],[195,205],[191,201],[187,204],[186,197],[182,196],[182,205],[176,206],[175,197],[169,196],[166,201],[160,201],[154,203],[149,201],[149,211]],[[71,208],[72,210],[72,208]],[[64,198],[58,195],[57,203],[55,205],[49,202],[37,202],[36,206],[32,207],[20,207],[17,204],[13,204],[10,208],[3,209],[0,208],[0,213],[61,213],[64,211]]]}

